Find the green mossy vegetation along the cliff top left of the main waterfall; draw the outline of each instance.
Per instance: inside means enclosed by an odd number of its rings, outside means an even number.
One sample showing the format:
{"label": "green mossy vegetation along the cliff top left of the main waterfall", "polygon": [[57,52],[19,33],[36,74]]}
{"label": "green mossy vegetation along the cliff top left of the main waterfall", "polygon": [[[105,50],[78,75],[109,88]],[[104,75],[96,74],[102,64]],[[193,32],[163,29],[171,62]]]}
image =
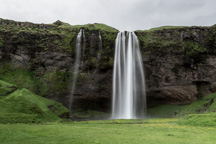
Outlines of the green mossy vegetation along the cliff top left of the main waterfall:
{"label": "green mossy vegetation along the cliff top left of the main waterfall", "polygon": [[[21,37],[28,35],[45,36],[44,38],[34,39],[35,44],[45,50],[48,50],[51,46],[59,50],[65,50],[67,52],[74,52],[73,42],[76,40],[76,35],[80,29],[85,31],[101,31],[101,35],[104,39],[110,39],[116,37],[118,30],[107,26],[105,24],[86,24],[86,25],[70,25],[57,21],[53,24],[33,24],[29,22],[16,22],[11,20],[0,19],[0,46],[3,44],[1,38],[4,38],[5,33],[13,33],[14,37],[19,36],[17,39],[21,40]],[[21,37],[20,37],[21,35]],[[50,37],[52,36],[52,37]],[[111,37],[110,37],[111,36]],[[57,37],[52,40],[53,37]],[[24,39],[21,41],[25,41]],[[51,46],[50,43],[52,43]]]}

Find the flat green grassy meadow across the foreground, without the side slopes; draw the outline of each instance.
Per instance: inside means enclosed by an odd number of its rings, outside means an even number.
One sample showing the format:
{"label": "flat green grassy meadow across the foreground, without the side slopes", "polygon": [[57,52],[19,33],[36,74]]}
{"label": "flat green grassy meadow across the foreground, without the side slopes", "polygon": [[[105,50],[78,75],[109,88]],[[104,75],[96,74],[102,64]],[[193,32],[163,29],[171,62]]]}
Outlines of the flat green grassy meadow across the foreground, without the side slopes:
{"label": "flat green grassy meadow across the foreground, without the side slopes", "polygon": [[1,144],[213,144],[216,127],[178,125],[178,119],[0,124]]}

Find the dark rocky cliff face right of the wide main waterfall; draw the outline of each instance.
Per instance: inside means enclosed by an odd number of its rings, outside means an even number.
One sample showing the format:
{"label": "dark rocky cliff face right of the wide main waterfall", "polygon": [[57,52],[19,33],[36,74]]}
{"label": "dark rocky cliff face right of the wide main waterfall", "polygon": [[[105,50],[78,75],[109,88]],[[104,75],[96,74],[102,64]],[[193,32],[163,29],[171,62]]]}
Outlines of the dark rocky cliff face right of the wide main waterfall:
{"label": "dark rocky cliff face right of the wide main waterfall", "polygon": [[215,92],[216,27],[137,31],[148,104],[187,104]]}

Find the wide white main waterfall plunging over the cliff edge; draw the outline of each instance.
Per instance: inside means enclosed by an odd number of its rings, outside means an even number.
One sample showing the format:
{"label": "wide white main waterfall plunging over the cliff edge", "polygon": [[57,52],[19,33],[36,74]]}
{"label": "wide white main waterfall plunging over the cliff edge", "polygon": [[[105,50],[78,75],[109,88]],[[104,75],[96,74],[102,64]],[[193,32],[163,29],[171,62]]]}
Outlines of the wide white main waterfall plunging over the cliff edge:
{"label": "wide white main waterfall plunging over the cliff edge", "polygon": [[145,77],[139,40],[134,32],[120,32],[115,46],[112,118],[143,118],[145,113]]}

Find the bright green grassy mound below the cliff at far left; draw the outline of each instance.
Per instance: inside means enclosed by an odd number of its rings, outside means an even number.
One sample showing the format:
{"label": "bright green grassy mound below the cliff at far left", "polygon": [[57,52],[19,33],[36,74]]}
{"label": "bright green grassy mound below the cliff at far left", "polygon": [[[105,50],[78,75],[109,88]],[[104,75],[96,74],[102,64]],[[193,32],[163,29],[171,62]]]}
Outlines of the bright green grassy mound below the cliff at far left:
{"label": "bright green grassy mound below the cliff at far left", "polygon": [[0,81],[0,123],[59,121],[68,110],[60,103]]}

